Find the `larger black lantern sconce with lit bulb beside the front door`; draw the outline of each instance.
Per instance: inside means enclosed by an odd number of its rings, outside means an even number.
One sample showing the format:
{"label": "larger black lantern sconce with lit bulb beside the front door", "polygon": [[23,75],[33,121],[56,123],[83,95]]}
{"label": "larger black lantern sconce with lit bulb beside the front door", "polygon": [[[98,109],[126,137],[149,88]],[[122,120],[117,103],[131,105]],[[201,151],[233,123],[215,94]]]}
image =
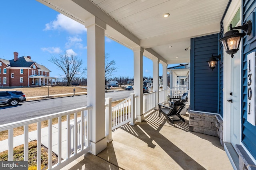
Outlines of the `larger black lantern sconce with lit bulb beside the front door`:
{"label": "larger black lantern sconce with lit bulb beside the front door", "polygon": [[[229,26],[230,31],[224,34],[224,37],[219,39],[222,42],[226,53],[231,55],[231,58],[234,57],[234,54],[239,50],[239,44],[245,35],[250,35],[252,32],[252,21],[247,21],[244,25],[238,27],[232,27],[232,24]],[[242,29],[245,33],[240,33],[238,30],[235,29]]]}

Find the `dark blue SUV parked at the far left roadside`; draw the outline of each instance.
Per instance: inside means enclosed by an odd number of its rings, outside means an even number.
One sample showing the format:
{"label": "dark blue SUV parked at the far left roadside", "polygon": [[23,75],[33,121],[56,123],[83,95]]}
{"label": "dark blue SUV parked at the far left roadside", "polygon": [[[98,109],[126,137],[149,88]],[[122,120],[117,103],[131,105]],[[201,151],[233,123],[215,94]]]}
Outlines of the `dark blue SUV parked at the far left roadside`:
{"label": "dark blue SUV parked at the far left roadside", "polygon": [[19,102],[26,101],[25,94],[21,91],[2,91],[0,92],[0,105],[8,104],[16,106]]}

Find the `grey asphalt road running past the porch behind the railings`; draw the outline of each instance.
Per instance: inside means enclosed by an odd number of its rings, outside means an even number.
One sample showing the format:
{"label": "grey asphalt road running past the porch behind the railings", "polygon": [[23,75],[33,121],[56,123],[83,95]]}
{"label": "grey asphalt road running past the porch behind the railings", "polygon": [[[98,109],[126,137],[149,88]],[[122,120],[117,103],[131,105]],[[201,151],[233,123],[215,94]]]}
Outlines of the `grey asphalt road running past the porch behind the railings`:
{"label": "grey asphalt road running past the porch behind the railings", "polygon": [[[131,93],[133,91],[108,91],[105,98],[116,101],[129,97]],[[28,101],[18,106],[0,106],[0,125],[84,106],[87,106],[87,95]]]}

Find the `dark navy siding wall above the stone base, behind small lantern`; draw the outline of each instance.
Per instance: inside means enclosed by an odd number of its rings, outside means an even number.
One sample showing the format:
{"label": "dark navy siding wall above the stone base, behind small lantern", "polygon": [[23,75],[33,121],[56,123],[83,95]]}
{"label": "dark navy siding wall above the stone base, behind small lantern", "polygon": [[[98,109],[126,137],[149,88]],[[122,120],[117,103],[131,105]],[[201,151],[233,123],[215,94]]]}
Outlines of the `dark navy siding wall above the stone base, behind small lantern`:
{"label": "dark navy siding wall above the stone base, behind small lantern", "polygon": [[218,55],[218,34],[191,39],[190,109],[218,113],[218,66],[207,61]]}

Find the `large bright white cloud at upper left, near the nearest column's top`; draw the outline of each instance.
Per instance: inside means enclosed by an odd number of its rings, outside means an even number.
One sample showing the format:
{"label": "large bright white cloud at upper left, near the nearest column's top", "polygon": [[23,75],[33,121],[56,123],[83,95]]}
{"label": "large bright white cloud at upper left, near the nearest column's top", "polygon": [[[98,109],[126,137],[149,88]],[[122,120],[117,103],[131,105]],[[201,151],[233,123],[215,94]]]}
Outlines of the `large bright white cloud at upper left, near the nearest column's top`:
{"label": "large bright white cloud at upper left, near the nearest column's top", "polygon": [[65,30],[71,34],[80,34],[86,31],[84,25],[64,16],[63,14],[58,14],[56,20],[46,23],[44,31],[56,29]]}

